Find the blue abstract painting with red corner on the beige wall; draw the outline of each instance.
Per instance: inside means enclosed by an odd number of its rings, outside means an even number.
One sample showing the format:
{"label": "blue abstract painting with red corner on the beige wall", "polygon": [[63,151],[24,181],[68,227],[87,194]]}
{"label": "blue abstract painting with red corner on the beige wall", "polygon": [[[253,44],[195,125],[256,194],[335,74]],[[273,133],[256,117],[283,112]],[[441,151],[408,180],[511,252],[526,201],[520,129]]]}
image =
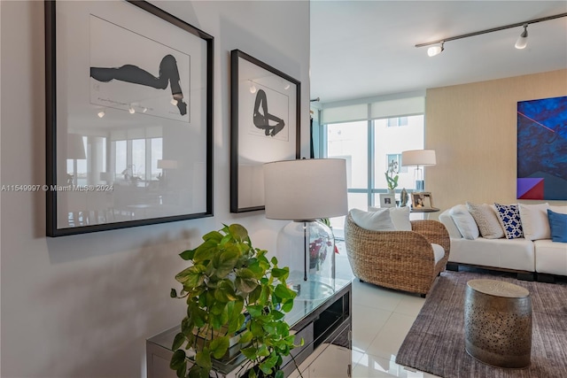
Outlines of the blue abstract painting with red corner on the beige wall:
{"label": "blue abstract painting with red corner on the beige wall", "polygon": [[517,103],[517,198],[567,199],[567,96]]}

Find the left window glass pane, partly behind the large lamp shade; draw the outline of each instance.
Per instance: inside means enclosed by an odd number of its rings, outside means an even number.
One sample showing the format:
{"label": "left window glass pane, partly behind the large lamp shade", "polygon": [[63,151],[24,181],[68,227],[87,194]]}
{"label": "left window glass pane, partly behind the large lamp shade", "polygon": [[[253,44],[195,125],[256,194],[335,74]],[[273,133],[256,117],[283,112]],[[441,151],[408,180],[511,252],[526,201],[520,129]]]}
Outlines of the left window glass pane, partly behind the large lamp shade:
{"label": "left window glass pane, partly behind the large lamp shade", "polygon": [[346,159],[347,188],[368,187],[368,122],[349,122],[327,128],[327,157]]}

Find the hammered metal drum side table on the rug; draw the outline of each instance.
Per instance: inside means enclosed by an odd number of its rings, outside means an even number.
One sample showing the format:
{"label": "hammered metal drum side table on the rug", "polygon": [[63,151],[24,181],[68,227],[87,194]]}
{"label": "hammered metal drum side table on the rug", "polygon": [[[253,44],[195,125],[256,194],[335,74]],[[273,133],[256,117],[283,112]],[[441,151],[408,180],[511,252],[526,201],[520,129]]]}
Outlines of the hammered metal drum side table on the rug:
{"label": "hammered metal drum side table on the rug", "polygon": [[485,364],[530,366],[532,297],[509,282],[470,280],[464,301],[465,350]]}

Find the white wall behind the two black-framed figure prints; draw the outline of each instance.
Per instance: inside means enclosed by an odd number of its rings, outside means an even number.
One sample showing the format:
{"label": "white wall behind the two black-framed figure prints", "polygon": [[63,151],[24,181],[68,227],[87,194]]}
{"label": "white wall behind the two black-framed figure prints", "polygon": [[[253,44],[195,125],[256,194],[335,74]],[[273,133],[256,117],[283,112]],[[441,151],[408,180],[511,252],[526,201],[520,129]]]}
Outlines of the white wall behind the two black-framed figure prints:
{"label": "white wall behind the two black-framed figure prints", "polygon": [[[308,155],[309,4],[158,2],[214,35],[214,218],[89,235],[45,237],[43,192],[2,192],[1,375],[138,377],[145,339],[183,318],[169,298],[178,253],[239,222],[275,251],[285,224],[264,212],[229,213],[229,51],[244,50],[302,83],[302,156]],[[0,2],[2,184],[45,181],[43,2]]]}

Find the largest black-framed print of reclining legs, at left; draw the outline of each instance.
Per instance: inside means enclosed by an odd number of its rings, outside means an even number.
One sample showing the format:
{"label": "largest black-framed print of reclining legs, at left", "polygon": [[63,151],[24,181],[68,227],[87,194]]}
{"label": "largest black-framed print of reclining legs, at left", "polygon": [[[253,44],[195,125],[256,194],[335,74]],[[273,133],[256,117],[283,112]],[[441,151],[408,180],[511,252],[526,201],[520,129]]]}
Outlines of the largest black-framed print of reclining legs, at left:
{"label": "largest black-framed print of reclining legs, at left", "polygon": [[144,1],[45,27],[47,235],[212,216],[213,36]]}

